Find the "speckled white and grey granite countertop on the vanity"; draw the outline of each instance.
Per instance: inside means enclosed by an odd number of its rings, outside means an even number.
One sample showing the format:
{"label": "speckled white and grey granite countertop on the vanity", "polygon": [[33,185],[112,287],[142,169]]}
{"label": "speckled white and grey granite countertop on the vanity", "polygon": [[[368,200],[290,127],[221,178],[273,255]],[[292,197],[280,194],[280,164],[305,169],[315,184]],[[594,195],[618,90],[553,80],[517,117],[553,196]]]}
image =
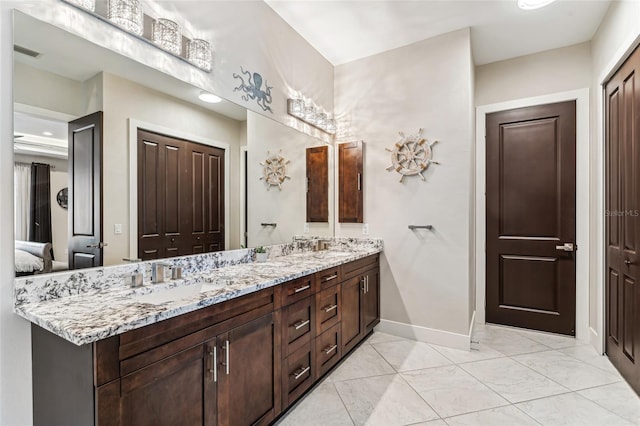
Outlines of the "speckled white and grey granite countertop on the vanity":
{"label": "speckled white and grey granite countertop on the vanity", "polygon": [[[162,284],[116,285],[95,292],[24,303],[15,312],[40,327],[84,345],[192,312],[292,279],[379,253],[380,248],[290,254],[263,263],[202,271]],[[147,278],[147,277],[145,277]]]}

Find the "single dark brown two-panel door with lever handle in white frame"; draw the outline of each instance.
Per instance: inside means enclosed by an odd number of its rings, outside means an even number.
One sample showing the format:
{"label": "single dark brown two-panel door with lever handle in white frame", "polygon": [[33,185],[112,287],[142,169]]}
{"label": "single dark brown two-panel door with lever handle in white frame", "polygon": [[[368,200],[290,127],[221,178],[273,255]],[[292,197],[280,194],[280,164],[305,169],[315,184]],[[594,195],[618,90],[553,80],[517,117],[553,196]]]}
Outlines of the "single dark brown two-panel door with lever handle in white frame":
{"label": "single dark brown two-panel door with lever handle in white frame", "polygon": [[575,101],[487,115],[488,322],[575,335]]}

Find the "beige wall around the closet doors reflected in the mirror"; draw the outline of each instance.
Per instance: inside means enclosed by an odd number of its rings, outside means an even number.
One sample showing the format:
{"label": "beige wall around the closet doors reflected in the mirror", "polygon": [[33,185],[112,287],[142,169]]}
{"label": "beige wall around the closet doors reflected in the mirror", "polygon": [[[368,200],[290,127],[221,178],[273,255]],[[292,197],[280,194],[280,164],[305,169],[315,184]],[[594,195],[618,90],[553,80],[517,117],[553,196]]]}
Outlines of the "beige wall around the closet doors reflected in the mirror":
{"label": "beige wall around the closet doors reflected in the mirror", "polygon": [[[118,76],[103,73],[104,97],[104,264],[122,263],[129,257],[129,120],[138,120],[176,134],[187,133],[227,143],[229,162],[230,248],[238,248],[240,122],[197,105],[172,98]],[[114,225],[122,225],[115,235]]]}

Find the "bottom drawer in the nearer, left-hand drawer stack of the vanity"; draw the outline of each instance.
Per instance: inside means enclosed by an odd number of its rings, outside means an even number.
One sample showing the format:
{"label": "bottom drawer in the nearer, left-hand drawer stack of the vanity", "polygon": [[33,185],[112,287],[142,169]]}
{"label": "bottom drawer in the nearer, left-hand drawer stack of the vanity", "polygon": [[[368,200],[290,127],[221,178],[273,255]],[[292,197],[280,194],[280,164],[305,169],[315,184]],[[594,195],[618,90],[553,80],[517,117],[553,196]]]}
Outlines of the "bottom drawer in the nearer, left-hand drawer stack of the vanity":
{"label": "bottom drawer in the nearer, left-hand drawer stack of the vanity", "polygon": [[290,405],[298,399],[315,380],[314,341],[289,355],[282,362],[282,402]]}

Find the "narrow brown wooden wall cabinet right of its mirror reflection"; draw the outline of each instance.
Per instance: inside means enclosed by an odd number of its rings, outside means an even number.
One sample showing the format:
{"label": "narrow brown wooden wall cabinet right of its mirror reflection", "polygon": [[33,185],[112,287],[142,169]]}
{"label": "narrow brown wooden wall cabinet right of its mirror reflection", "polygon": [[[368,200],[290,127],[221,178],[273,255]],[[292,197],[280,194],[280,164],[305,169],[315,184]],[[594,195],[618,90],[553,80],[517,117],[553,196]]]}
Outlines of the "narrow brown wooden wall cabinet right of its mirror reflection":
{"label": "narrow brown wooden wall cabinet right of its mirror reflection", "polygon": [[363,144],[350,142],[338,145],[338,221],[363,221]]}

